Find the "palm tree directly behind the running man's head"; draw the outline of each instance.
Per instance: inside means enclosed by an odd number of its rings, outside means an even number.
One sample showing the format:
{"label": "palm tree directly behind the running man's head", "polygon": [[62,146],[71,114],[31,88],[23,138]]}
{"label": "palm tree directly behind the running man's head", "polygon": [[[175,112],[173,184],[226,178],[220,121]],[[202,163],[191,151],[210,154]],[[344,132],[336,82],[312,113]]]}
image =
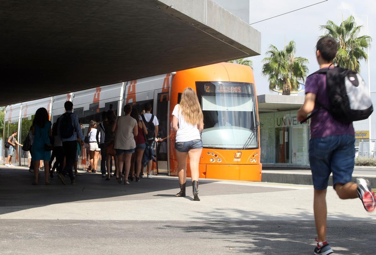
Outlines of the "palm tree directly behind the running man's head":
{"label": "palm tree directly behind the running man's head", "polygon": [[325,32],[323,36],[331,36],[338,41],[338,51],[334,63],[343,68],[351,68],[359,73],[359,61],[368,59],[365,50],[370,47],[371,36],[358,36],[362,26],[356,25],[352,15],[342,21],[340,26],[328,20],[326,25],[320,26],[320,28]]}

